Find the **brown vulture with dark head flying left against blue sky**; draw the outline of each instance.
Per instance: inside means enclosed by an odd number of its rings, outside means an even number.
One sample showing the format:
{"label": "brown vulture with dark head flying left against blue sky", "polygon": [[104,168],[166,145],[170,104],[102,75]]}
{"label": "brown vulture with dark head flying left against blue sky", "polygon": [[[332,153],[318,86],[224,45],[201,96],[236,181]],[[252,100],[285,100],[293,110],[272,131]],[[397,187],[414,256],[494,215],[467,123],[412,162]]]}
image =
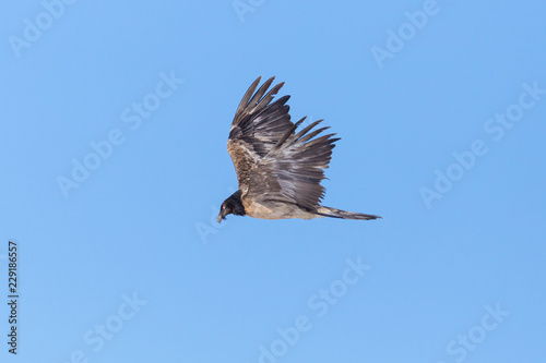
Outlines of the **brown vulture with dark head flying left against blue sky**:
{"label": "brown vulture with dark head flying left against blue sky", "polygon": [[227,152],[239,189],[222,203],[217,222],[227,215],[260,219],[382,218],[321,205],[325,192],[321,185],[324,169],[340,138],[333,137],[335,134],[319,135],[329,129],[317,128],[323,120],[302,129],[306,117],[292,122],[287,105],[290,96],[273,101],[284,85],[282,82],[271,87],[274,78],[258,88],[261,76],[258,77],[235,112]]}

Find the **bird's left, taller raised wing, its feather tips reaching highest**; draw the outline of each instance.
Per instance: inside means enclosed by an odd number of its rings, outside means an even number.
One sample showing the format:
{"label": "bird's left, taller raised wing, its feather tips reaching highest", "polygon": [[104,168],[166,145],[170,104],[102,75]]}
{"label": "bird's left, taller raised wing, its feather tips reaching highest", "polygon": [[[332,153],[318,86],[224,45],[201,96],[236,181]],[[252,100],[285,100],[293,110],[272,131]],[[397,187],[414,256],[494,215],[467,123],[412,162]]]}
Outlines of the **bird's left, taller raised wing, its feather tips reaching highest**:
{"label": "bird's left, taller raised wing, its feather tips reaching highest", "polygon": [[268,92],[274,80],[271,77],[256,90],[260,80],[258,77],[242,97],[227,141],[227,152],[234,162],[242,194],[248,191],[253,166],[294,126],[286,105],[290,96],[271,102],[284,82]]}

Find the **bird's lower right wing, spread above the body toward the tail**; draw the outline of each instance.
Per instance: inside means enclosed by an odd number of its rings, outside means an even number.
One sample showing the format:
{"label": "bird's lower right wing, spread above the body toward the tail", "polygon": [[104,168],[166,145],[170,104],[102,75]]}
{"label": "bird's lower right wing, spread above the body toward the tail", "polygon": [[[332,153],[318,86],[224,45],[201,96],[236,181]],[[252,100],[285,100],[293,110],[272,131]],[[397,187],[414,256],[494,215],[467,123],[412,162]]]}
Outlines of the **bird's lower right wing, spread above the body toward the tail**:
{"label": "bird's lower right wing, spread above the body toward the tail", "polygon": [[[324,195],[320,184],[332,157],[334,134],[314,137],[329,128],[312,130],[316,121],[295,134],[298,121],[273,148],[253,165],[247,198],[259,203],[277,201],[295,203],[307,210],[317,210]],[[314,138],[313,138],[314,137]]]}

